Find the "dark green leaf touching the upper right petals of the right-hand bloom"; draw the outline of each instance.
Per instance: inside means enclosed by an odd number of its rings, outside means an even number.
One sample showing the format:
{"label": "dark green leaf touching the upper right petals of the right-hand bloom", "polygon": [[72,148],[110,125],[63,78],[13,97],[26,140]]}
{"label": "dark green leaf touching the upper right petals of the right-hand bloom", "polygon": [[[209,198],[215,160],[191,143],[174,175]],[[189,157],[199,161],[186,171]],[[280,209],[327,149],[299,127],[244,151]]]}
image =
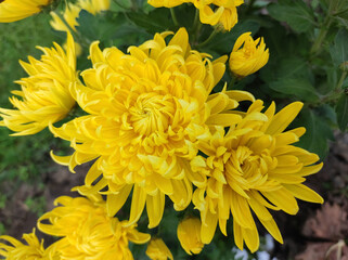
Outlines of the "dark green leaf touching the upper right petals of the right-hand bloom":
{"label": "dark green leaf touching the upper right petals of the right-hand bloom", "polygon": [[324,159],[328,152],[327,141],[334,139],[326,118],[313,109],[304,108],[297,118],[297,125],[306,128],[306,133],[297,145]]}

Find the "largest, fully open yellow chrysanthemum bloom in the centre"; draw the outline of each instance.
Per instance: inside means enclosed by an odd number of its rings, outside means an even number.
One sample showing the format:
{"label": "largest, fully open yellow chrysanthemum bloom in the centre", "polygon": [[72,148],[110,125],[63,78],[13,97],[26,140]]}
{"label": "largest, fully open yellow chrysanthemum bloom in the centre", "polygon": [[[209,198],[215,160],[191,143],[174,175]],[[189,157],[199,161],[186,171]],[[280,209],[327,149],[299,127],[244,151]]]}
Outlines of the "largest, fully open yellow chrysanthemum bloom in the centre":
{"label": "largest, fully open yellow chrysanthemum bloom in the centre", "polygon": [[254,99],[243,91],[209,96],[224,74],[225,56],[211,62],[208,54],[191,51],[184,28],[167,44],[169,35],[156,34],[130,47],[130,54],[117,48],[102,52],[92,43],[93,68],[81,74],[86,87],[73,88],[88,115],[50,128],[75,148],[72,156],[53,156],[57,162],[73,171],[96,159],[86,186],[98,184],[79,191],[93,194],[107,186],[108,212],[114,216],[133,188],[129,221],[137,222],[146,205],[150,227],[162,219],[165,195],[176,210],[183,210],[192,198],[192,183],[205,184],[203,174],[191,171],[190,160],[197,154],[195,143],[209,138],[208,126],[240,120],[225,110]]}

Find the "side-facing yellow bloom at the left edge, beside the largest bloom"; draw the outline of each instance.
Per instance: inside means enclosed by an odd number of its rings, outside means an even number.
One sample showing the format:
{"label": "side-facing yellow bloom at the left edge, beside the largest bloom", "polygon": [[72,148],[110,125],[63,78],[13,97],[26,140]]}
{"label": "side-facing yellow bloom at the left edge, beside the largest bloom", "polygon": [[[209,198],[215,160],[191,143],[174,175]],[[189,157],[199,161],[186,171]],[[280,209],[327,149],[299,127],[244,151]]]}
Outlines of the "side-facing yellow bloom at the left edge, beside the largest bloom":
{"label": "side-facing yellow bloom at the left edge, beside the largest bloom", "polygon": [[20,62],[29,75],[16,81],[22,91],[12,91],[21,100],[12,96],[10,102],[16,109],[0,108],[1,126],[5,126],[13,135],[34,134],[49,123],[63,119],[75,104],[69,86],[77,79],[75,43],[70,35],[67,37],[67,51],[54,42],[55,48],[41,48],[40,60],[31,56],[29,63]]}

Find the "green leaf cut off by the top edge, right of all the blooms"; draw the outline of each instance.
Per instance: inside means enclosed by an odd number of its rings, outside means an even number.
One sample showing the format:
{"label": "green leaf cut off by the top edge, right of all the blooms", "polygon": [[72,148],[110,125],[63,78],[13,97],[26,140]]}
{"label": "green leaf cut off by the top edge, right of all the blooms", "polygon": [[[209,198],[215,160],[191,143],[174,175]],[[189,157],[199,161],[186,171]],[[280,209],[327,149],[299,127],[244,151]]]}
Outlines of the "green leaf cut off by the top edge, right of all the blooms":
{"label": "green leaf cut off by the top edge, right of all the blooms", "polygon": [[286,22],[297,32],[308,31],[315,24],[313,11],[300,0],[279,0],[267,10],[273,18]]}

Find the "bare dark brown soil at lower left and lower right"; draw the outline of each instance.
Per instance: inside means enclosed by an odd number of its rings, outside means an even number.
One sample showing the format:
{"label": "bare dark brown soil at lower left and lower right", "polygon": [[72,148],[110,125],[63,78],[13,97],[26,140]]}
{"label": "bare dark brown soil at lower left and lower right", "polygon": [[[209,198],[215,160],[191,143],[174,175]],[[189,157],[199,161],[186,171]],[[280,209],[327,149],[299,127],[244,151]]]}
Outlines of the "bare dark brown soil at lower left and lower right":
{"label": "bare dark brown soil at lower left and lower right", "polygon": [[[21,238],[23,233],[30,233],[38,216],[24,202],[28,197],[43,196],[46,210],[51,210],[56,197],[74,196],[70,188],[83,183],[83,172],[88,167],[80,166],[77,173],[72,174],[66,167],[55,166],[54,171],[42,176],[43,188],[22,184],[13,192],[10,191],[11,185],[2,183],[0,188],[3,193],[13,193],[0,210],[0,222],[5,233],[16,238]],[[315,205],[299,202],[300,210],[296,216],[273,213],[284,244],[275,243],[271,259],[348,260],[348,134],[336,134],[323,169],[309,177],[306,184],[321,194],[325,203]],[[42,237],[42,234],[39,236]]]}

